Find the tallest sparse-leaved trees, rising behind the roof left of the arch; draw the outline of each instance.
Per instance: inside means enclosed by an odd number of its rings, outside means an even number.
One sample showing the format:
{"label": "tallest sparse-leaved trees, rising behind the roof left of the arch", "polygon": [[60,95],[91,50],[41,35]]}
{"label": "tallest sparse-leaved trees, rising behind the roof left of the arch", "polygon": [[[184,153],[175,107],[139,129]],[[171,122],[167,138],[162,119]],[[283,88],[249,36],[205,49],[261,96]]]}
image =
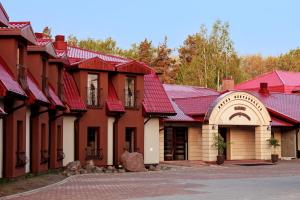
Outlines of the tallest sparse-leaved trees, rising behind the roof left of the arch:
{"label": "tallest sparse-leaved trees, rising behind the roof left of the arch", "polygon": [[242,80],[239,58],[229,36],[229,24],[216,21],[212,31],[202,25],[200,31],[189,35],[179,48],[179,84],[219,89],[223,78]]}

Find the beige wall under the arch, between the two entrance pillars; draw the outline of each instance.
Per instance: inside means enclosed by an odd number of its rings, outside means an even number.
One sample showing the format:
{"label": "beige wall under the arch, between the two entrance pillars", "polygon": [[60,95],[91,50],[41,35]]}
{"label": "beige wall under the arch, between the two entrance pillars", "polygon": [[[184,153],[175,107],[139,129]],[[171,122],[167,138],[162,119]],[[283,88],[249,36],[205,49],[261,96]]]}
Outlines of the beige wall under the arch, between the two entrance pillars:
{"label": "beige wall under the arch, between the two entrance pillars", "polygon": [[229,133],[230,160],[255,159],[255,130],[249,127],[233,127]]}

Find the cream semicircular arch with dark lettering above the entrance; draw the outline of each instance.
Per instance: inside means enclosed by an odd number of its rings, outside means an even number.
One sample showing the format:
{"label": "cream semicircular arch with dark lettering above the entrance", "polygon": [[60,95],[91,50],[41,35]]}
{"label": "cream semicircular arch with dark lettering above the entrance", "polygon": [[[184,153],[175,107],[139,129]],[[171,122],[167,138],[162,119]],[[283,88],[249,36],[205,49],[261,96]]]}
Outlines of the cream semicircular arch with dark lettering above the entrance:
{"label": "cream semicircular arch with dark lettering above the entrance", "polygon": [[210,106],[205,120],[215,125],[269,126],[271,117],[264,104],[248,92],[227,92]]}

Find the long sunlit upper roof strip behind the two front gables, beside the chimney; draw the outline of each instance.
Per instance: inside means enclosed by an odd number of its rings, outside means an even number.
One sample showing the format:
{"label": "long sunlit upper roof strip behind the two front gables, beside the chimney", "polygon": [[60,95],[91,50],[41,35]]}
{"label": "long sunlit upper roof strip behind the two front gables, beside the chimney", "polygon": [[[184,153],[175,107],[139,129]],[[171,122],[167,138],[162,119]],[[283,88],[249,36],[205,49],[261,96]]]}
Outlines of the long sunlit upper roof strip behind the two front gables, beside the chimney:
{"label": "long sunlit upper roof strip behind the two front gables, beside the chimney", "polygon": [[67,55],[69,58],[79,58],[79,59],[90,59],[94,57],[99,57],[100,59],[106,62],[113,62],[113,63],[123,63],[129,61],[128,59],[119,56],[107,55],[96,51],[86,50],[86,49],[73,47],[73,46],[68,46]]}

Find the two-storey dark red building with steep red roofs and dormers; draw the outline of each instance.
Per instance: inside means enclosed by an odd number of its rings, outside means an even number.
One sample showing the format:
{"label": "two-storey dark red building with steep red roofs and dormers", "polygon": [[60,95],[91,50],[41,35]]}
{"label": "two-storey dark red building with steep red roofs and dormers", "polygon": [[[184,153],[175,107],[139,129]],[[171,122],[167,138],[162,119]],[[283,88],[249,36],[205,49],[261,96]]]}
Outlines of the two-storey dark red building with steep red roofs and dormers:
{"label": "two-storey dark red building with steep red roofs and dormers", "polygon": [[0,178],[119,165],[124,151],[159,163],[160,119],[175,111],[153,69],[34,33],[0,8]]}

